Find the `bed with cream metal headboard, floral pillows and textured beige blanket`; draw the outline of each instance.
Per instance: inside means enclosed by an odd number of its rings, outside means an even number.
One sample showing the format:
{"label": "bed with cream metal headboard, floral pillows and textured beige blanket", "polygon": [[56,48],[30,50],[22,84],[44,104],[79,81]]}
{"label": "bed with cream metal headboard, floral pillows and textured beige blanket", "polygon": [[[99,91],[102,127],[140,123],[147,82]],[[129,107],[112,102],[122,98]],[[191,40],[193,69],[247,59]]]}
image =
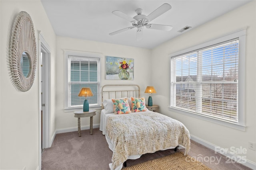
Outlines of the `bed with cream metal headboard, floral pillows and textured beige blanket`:
{"label": "bed with cream metal headboard, floral pillows and textured beige blanket", "polygon": [[122,169],[126,160],[138,159],[142,154],[177,148],[185,149],[187,154],[190,150],[188,129],[175,119],[149,111],[136,84],[102,87],[100,131],[113,152],[111,170]]}

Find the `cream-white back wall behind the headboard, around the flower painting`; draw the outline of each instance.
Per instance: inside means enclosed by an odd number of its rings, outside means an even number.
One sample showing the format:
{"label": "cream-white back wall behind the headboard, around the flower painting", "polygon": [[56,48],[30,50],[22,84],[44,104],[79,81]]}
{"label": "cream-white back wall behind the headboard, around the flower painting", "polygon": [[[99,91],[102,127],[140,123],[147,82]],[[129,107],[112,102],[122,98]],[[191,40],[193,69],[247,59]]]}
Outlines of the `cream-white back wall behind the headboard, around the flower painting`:
{"label": "cream-white back wall behind the headboard, around the flower painting", "polygon": [[[74,110],[64,110],[64,84],[65,82],[65,68],[64,68],[64,50],[84,51],[91,53],[102,53],[103,57],[100,59],[100,86],[105,84],[139,84],[141,88],[141,95],[148,98],[148,94],[144,94],[146,86],[150,85],[151,75],[150,71],[150,55],[151,50],[129,47],[124,45],[114,45],[110,43],[101,43],[96,41],[86,41],[80,39],[72,39],[66,37],[57,37],[57,60],[56,60],[56,112],[55,112],[55,127],[56,130],[64,130],[69,128],[77,129],[77,118],[74,118]],[[134,80],[106,80],[105,71],[105,56],[123,57],[134,59]],[[96,112],[97,113],[97,112]],[[93,118],[93,124],[100,123],[100,114],[97,113]],[[89,117],[81,119],[81,127],[90,125]]]}

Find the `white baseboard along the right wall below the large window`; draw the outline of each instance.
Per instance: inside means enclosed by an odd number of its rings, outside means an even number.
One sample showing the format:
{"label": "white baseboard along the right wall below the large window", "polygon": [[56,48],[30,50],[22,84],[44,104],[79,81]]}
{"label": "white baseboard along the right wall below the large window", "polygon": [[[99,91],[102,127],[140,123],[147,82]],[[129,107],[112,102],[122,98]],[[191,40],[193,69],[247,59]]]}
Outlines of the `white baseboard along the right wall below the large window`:
{"label": "white baseboard along the right wall below the large window", "polygon": [[[229,150],[225,150],[223,148],[220,148],[216,145],[213,145],[212,143],[209,143],[207,141],[204,141],[203,139],[200,139],[198,137],[195,137],[193,135],[190,135],[190,139],[193,141],[196,141],[197,143],[200,143],[201,145],[204,145],[205,147],[214,150],[215,152],[218,152],[234,161],[239,160],[240,164],[243,164],[244,166],[247,166],[249,168],[252,169],[256,169],[256,163],[250,161],[250,160],[246,160],[246,158],[243,158],[242,156],[238,156],[232,152],[230,152]],[[238,162],[238,161],[237,161]]]}

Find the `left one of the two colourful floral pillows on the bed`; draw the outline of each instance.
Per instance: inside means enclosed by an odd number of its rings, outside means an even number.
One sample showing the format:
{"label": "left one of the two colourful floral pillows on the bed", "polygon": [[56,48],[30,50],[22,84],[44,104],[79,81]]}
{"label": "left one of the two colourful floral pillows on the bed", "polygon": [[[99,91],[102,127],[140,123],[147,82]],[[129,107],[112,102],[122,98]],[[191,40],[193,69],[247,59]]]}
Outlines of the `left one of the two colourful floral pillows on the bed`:
{"label": "left one of the two colourful floral pillows on the bed", "polygon": [[128,99],[112,99],[114,105],[114,114],[126,114],[131,113],[131,109],[128,103]]}

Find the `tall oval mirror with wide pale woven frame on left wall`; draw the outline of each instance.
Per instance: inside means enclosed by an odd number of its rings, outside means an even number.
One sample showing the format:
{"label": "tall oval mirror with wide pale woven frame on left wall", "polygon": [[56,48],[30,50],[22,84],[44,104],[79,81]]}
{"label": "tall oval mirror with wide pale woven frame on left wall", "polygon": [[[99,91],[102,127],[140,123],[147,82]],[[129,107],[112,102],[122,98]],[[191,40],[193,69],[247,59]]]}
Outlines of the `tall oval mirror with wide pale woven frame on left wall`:
{"label": "tall oval mirror with wide pale woven frame on left wall", "polygon": [[35,78],[36,37],[30,15],[24,11],[18,14],[12,27],[10,70],[17,88],[28,91]]}

